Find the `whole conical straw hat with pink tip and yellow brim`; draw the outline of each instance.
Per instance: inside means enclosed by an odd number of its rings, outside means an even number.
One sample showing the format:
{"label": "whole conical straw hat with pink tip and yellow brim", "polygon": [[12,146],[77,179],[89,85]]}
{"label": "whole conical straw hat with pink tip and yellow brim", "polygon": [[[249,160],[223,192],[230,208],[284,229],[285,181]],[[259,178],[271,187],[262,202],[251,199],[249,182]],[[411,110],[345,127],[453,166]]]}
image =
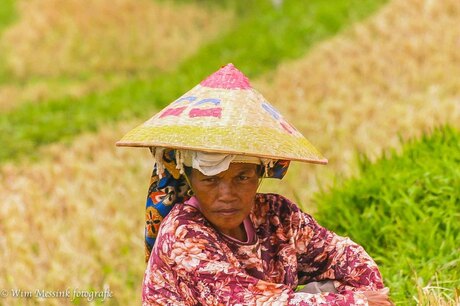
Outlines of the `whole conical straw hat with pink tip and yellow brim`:
{"label": "whole conical straw hat with pink tip and yellow brim", "polygon": [[117,146],[327,163],[232,64],[222,67],[128,132]]}

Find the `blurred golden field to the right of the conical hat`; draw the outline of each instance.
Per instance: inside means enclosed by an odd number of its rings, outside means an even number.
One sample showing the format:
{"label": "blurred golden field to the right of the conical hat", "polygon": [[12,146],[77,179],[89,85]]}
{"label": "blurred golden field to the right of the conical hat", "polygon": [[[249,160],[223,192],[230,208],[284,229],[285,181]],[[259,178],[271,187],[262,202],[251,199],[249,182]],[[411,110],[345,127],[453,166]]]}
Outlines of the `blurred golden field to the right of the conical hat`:
{"label": "blurred golden field to the right of the conical hat", "polygon": [[351,174],[357,153],[375,157],[441,123],[460,126],[459,22],[459,1],[395,0],[255,84],[329,158],[292,171],[301,199],[316,178]]}

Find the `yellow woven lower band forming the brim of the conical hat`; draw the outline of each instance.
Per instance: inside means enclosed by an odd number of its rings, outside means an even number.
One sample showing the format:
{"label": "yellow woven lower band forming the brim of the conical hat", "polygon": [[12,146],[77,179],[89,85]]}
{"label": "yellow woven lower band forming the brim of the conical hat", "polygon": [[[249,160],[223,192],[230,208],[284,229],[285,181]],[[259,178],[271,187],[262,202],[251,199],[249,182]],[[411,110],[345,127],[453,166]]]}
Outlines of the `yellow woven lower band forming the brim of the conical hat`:
{"label": "yellow woven lower band forming the brim of the conical hat", "polygon": [[[181,131],[183,132],[182,135],[177,134]],[[249,155],[276,160],[296,160],[315,164],[327,164],[328,162],[327,159],[320,157],[321,154],[306,139],[292,141],[292,139],[286,139],[284,135],[277,135],[276,131],[265,130],[264,132],[266,133],[262,134],[259,129],[251,127],[235,128],[229,132],[222,128],[194,126],[180,128],[139,126],[117,142],[117,146],[164,147],[210,153]],[[191,137],[191,135],[203,135],[203,133],[206,133],[205,136]],[[225,133],[225,137],[222,136],[222,133]],[[267,136],[269,137],[267,138]],[[257,138],[257,145],[242,145],[241,138],[245,137]],[[136,139],[136,141],[124,140],[125,138]],[[277,142],[279,146],[272,146],[273,142]],[[203,146],[203,143],[208,143],[208,145]]]}

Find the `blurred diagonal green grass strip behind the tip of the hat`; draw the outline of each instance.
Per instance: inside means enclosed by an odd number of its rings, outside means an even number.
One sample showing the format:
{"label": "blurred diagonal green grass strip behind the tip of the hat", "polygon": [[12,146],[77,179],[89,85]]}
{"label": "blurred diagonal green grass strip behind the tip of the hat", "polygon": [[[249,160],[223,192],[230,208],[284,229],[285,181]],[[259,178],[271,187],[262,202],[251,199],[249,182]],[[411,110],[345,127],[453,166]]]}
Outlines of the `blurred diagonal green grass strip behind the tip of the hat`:
{"label": "blurred diagonal green grass strip behind the tip of the hat", "polygon": [[[249,77],[304,54],[318,41],[379,8],[385,0],[255,1],[236,27],[202,47],[178,69],[134,79],[106,93],[81,99],[25,103],[0,114],[0,163],[37,158],[37,148],[71,141],[86,131],[131,118],[148,119],[154,109],[173,101],[220,66],[233,62]],[[121,136],[121,135],[120,135]]]}

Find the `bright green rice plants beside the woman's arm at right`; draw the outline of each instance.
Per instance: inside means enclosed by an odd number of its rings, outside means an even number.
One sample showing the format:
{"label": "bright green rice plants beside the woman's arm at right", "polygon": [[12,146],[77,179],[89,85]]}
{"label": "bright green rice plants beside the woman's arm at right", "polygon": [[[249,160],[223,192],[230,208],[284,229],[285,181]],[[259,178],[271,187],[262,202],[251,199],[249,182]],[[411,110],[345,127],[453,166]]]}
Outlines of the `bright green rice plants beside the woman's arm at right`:
{"label": "bright green rice plants beside the woman's arm at right", "polygon": [[460,288],[460,131],[440,127],[399,153],[376,162],[361,157],[359,164],[357,177],[315,196],[320,223],[366,248],[396,302],[419,301],[420,288],[454,299]]}

